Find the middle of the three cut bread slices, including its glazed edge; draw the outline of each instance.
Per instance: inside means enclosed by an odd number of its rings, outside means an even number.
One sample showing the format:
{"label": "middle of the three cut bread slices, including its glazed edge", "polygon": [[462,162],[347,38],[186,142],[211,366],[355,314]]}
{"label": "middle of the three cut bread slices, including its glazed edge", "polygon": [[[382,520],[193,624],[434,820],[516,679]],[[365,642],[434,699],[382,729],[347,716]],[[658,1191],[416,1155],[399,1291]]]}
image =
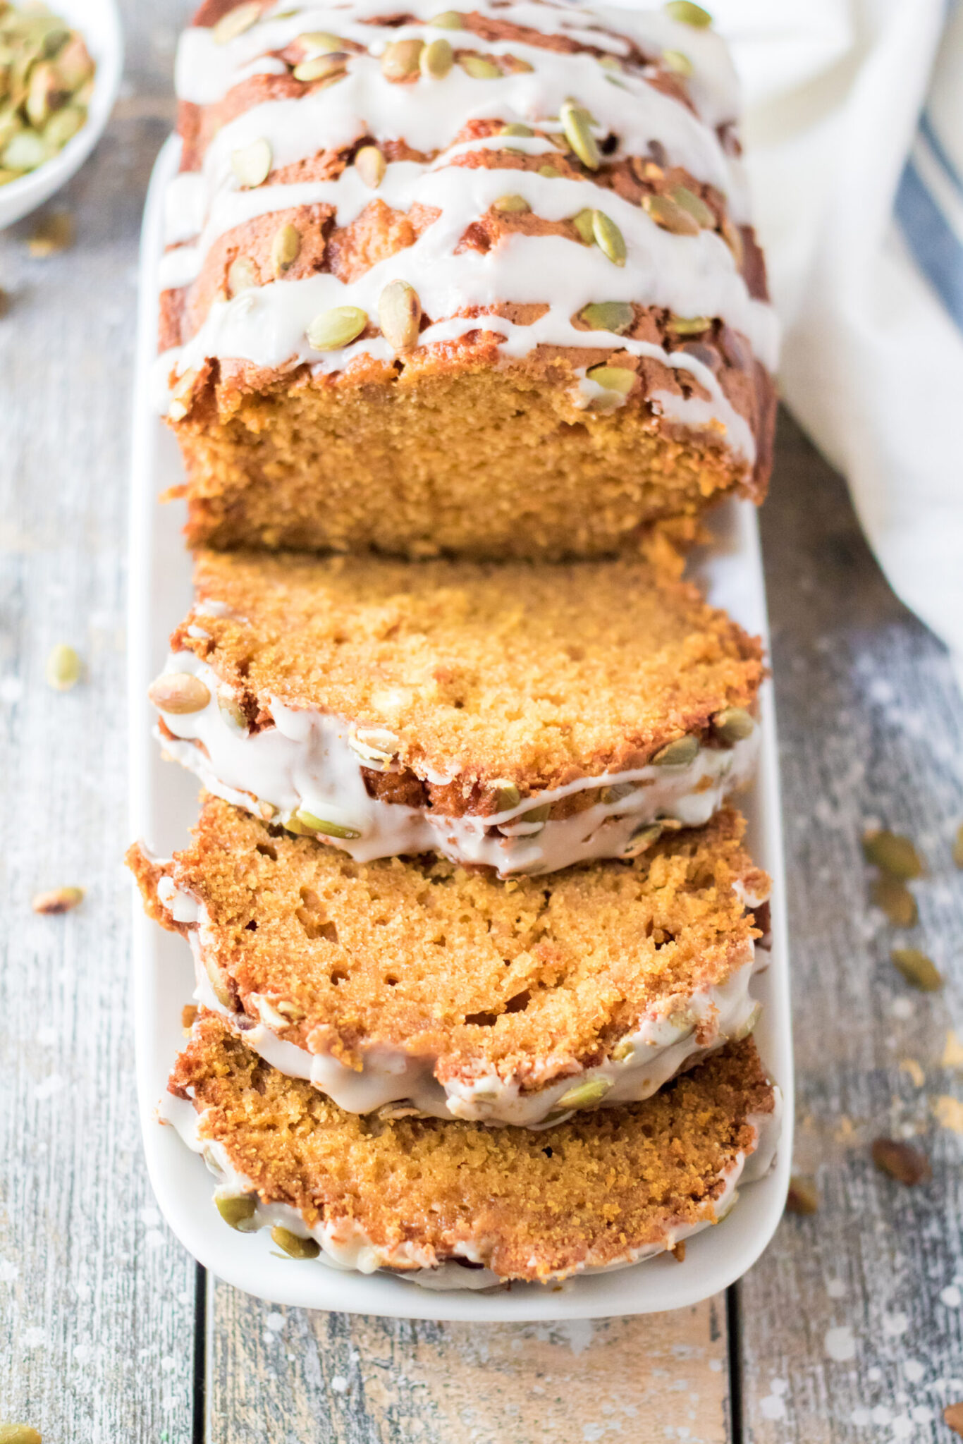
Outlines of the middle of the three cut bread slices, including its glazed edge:
{"label": "middle of the three cut bread slices, including its glazed edge", "polygon": [[349,1112],[536,1126],[751,1031],[770,879],[742,832],[726,810],[634,862],[500,882],[358,864],[208,797],[188,851],[128,861],[198,999],[283,1073]]}

